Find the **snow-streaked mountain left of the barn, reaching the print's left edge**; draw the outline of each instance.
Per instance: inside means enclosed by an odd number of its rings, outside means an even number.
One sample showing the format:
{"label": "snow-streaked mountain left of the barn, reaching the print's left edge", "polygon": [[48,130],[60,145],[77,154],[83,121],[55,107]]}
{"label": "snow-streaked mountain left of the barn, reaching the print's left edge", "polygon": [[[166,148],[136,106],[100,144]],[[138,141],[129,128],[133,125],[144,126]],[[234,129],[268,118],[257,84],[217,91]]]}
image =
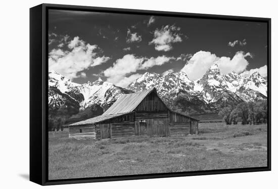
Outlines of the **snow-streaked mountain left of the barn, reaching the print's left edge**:
{"label": "snow-streaked mountain left of the barn, reaching the print's left edge", "polygon": [[131,91],[105,82],[101,78],[92,83],[88,81],[78,84],[57,72],[49,72],[49,106],[52,108],[59,109],[63,105],[74,104],[74,108],[81,110],[91,105],[100,105],[107,109],[126,93]]}

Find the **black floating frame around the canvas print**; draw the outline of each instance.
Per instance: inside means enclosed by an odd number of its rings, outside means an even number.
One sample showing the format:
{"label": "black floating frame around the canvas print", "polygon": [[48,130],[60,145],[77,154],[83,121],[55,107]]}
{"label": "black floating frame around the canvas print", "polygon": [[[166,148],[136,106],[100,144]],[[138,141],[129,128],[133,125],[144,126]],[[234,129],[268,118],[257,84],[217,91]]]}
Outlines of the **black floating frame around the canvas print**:
{"label": "black floating frame around the canvas print", "polygon": [[[96,178],[48,179],[48,10],[62,9],[74,11],[98,11],[109,13],[140,14],[154,16],[206,18],[233,21],[265,22],[268,28],[267,44],[267,166],[222,170],[191,171],[178,173],[158,173],[126,176],[107,176]],[[41,4],[30,8],[30,180],[41,185],[164,178],[193,175],[226,174],[271,170],[271,19],[240,16],[192,14],[162,11],[85,7],[72,5]]]}

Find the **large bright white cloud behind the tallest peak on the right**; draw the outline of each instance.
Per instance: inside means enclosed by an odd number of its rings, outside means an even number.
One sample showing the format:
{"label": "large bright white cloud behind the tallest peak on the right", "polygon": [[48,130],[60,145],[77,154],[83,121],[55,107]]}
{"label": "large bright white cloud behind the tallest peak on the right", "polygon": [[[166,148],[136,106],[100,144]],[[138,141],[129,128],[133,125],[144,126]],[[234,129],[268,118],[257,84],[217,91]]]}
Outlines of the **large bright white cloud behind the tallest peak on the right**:
{"label": "large bright white cloud behind the tallest peak on the right", "polygon": [[189,78],[193,80],[201,78],[213,64],[218,65],[222,74],[227,74],[231,71],[241,73],[246,70],[246,67],[249,64],[246,57],[252,58],[252,55],[250,53],[245,54],[244,52],[239,51],[231,59],[229,57],[217,57],[210,52],[199,51],[193,55],[181,70],[187,73]]}

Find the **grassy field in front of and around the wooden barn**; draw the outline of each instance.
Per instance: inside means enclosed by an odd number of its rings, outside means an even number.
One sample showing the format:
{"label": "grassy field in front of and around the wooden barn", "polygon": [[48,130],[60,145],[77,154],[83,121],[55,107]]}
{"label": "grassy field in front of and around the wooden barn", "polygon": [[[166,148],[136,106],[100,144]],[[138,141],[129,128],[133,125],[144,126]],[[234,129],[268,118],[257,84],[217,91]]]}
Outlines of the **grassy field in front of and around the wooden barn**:
{"label": "grassy field in front of and around the wooden barn", "polygon": [[103,140],[49,134],[49,179],[267,165],[267,125],[200,123],[198,135]]}

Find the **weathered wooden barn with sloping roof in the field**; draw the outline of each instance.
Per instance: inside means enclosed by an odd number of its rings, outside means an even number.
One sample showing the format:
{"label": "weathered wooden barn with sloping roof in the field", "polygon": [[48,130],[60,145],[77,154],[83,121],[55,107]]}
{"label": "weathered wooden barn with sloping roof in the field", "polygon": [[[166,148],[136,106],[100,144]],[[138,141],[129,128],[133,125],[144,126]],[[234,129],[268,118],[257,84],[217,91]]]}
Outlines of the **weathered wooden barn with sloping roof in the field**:
{"label": "weathered wooden barn with sloping roof in the field", "polygon": [[102,115],[68,126],[69,137],[102,139],[196,134],[198,121],[170,110],[153,88],[123,95]]}

